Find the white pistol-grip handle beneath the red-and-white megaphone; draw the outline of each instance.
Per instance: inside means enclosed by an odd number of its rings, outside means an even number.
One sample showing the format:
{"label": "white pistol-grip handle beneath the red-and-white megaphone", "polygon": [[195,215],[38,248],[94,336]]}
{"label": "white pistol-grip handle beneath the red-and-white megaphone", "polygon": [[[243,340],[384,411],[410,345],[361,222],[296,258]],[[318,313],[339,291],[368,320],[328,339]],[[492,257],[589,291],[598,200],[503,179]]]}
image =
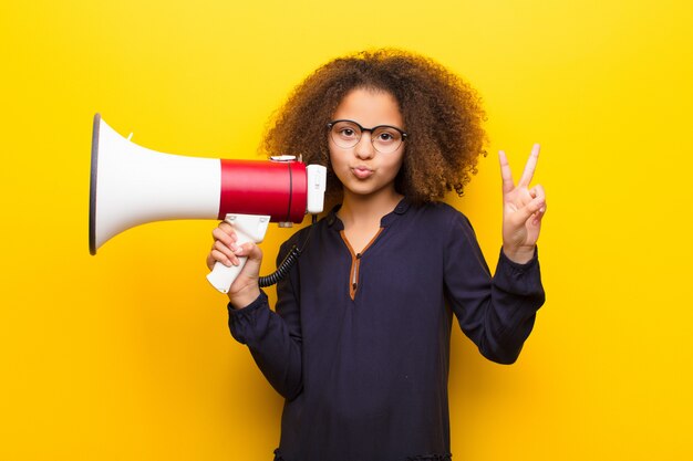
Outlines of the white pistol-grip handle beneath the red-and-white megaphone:
{"label": "white pistol-grip handle beneath the red-and-white megaphone", "polygon": [[[260,243],[265,239],[269,216],[256,214],[227,214],[226,221],[236,228],[236,244],[241,245],[247,242]],[[240,273],[248,258],[239,256],[238,265],[226,266],[217,262],[211,272],[207,274],[207,280],[221,293],[228,293],[231,284]]]}

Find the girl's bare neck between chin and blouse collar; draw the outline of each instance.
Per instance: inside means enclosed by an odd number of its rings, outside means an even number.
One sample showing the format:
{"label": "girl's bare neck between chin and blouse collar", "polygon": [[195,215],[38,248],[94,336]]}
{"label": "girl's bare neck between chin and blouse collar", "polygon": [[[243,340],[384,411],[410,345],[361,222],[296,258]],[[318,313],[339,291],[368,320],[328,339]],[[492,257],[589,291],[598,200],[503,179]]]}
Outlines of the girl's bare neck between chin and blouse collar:
{"label": "girl's bare neck between chin and blouse collar", "polygon": [[377,223],[397,206],[404,196],[394,189],[381,193],[360,196],[344,190],[342,206],[338,211],[344,228]]}

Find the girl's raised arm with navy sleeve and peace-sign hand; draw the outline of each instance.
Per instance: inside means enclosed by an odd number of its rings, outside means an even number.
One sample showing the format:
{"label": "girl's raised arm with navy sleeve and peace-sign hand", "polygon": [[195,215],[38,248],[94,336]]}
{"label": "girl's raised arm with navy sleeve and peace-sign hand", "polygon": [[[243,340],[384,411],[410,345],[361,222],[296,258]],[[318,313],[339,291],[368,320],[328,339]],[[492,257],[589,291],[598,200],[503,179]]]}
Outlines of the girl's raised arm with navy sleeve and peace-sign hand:
{"label": "girl's raised arm with navy sleeve and peace-sign hand", "polygon": [[499,153],[503,250],[495,275],[463,216],[453,224],[446,249],[445,284],[459,325],[485,357],[501,364],[517,359],[545,301],[537,240],[546,196],[541,186],[529,187],[538,157],[535,145],[515,185],[505,153]]}

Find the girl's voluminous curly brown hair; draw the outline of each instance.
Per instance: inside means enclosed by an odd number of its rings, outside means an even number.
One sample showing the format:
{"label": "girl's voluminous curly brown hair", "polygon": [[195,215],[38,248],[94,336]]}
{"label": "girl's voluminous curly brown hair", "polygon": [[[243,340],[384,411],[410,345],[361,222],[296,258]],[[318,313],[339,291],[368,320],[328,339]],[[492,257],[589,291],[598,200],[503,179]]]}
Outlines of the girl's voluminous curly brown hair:
{"label": "girl's voluminous curly brown hair", "polygon": [[272,155],[300,155],[306,164],[328,167],[327,200],[342,185],[330,167],[327,124],[353,90],[384,91],[397,101],[408,137],[397,192],[414,203],[463,195],[486,155],[485,112],[480,96],[435,61],[401,50],[364,51],[338,57],[298,85],[270,119],[263,147]]}

